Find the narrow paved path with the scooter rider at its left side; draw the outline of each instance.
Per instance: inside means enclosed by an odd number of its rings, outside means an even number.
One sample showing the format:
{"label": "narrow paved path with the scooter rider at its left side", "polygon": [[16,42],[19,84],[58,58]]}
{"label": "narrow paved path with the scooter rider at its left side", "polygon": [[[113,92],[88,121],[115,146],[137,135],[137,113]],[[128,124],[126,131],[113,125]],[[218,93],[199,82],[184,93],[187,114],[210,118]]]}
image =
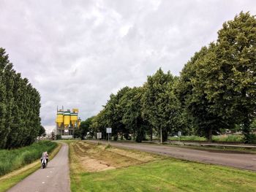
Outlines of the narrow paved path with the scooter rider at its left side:
{"label": "narrow paved path with the scooter rider at its left side", "polygon": [[10,192],[69,192],[69,147],[63,143],[59,153],[48,162],[45,169],[29,175],[20,183],[10,188]]}

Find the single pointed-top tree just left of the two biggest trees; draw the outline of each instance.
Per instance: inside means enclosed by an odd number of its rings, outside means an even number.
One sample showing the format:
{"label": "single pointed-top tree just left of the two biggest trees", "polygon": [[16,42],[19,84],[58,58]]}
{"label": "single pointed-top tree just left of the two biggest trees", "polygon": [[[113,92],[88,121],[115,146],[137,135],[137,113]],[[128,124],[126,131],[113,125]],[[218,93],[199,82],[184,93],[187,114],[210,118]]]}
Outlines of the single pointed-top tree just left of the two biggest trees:
{"label": "single pointed-top tree just left of the two biggest trees", "polygon": [[[173,92],[174,77],[162,69],[148,76],[142,98],[143,117],[158,130],[161,142],[167,140],[167,133],[174,126],[178,115],[178,99]],[[162,136],[162,137],[161,137]]]}

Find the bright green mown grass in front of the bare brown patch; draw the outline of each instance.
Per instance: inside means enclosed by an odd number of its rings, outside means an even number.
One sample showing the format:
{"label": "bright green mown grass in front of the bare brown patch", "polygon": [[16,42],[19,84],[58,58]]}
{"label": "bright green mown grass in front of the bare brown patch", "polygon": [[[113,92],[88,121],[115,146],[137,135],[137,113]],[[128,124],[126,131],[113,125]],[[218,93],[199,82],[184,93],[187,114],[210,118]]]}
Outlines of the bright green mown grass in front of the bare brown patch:
{"label": "bright green mown grass in front of the bare brown patch", "polygon": [[255,172],[172,158],[75,177],[72,191],[256,191]]}

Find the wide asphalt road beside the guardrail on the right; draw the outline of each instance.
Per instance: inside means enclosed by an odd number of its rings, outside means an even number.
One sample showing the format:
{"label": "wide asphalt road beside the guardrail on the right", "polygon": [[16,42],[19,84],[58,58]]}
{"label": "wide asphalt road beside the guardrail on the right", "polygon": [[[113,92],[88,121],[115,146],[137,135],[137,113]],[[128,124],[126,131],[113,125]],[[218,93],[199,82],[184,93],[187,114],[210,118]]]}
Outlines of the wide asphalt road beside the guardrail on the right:
{"label": "wide asphalt road beside the guardrail on the right", "polygon": [[[99,141],[90,141],[99,142]],[[100,141],[107,144],[108,142]],[[236,152],[194,150],[184,147],[172,147],[165,145],[136,144],[127,142],[111,142],[114,147],[123,147],[133,150],[141,150],[150,153],[168,155],[174,158],[189,161],[199,161],[208,164],[233,166],[239,169],[248,169],[256,172],[256,155]]]}

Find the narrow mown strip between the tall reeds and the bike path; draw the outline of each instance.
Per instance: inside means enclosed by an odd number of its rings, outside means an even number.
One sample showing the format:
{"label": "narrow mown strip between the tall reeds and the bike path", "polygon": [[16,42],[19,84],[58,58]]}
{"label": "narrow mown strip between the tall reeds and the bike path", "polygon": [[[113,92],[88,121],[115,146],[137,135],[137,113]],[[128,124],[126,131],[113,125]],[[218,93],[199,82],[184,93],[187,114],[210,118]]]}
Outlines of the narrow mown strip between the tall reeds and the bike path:
{"label": "narrow mown strip between the tall reeds and the bike path", "polygon": [[[50,159],[52,159],[60,150],[61,144],[56,143],[55,148],[50,153]],[[29,174],[37,171],[41,167],[39,159],[32,162],[29,165],[23,166],[20,169],[17,169],[9,174],[5,174],[4,176],[0,177],[0,192],[7,191],[12,186],[19,183],[24,178],[28,177]]]}

